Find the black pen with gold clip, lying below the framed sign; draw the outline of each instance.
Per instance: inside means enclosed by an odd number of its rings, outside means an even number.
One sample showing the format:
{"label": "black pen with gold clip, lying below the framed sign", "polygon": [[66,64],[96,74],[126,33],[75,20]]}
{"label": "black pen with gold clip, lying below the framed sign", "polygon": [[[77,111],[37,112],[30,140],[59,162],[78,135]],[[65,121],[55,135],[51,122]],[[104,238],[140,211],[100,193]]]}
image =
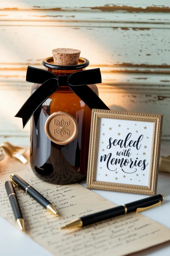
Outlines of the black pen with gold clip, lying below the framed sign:
{"label": "black pen with gold clip, lying below the framed sign", "polygon": [[72,220],[68,224],[64,225],[61,229],[71,229],[84,227],[98,221],[110,219],[122,214],[129,212],[140,212],[152,208],[157,205],[161,205],[161,202],[164,200],[164,196],[159,194],[151,197],[147,197],[141,200],[137,200],[126,205],[116,206],[104,211],[99,211],[94,214],[83,216],[81,218]]}

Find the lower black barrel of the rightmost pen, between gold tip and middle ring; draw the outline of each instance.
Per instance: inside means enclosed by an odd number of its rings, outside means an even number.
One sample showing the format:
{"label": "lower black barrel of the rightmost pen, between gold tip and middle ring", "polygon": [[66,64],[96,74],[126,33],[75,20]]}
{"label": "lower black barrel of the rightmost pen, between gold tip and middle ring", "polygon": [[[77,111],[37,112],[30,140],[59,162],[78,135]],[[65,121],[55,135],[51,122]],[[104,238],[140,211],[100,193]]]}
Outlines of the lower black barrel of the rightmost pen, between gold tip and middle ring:
{"label": "lower black barrel of the rightmost pen, between gold tip and middle ring", "polygon": [[110,218],[122,215],[124,213],[125,213],[125,208],[122,205],[120,205],[111,209],[107,209],[104,211],[96,212],[94,214],[83,216],[81,217],[81,220],[83,222],[83,226],[87,226],[98,221],[102,221],[102,220],[106,220],[106,219],[110,219]]}

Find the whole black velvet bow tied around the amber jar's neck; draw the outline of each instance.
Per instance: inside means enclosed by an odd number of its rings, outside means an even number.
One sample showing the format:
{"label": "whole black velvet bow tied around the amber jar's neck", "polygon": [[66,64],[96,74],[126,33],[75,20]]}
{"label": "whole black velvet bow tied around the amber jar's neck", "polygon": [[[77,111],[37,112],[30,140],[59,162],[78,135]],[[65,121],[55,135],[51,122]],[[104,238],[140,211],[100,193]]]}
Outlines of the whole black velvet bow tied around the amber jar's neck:
{"label": "whole black velvet bow tied around the amber jar's neck", "polygon": [[31,94],[15,115],[22,118],[23,128],[36,109],[60,86],[68,86],[90,109],[109,110],[96,93],[87,86],[87,84],[101,83],[99,68],[77,71],[69,76],[57,76],[52,72],[28,66],[26,81],[42,85]]}

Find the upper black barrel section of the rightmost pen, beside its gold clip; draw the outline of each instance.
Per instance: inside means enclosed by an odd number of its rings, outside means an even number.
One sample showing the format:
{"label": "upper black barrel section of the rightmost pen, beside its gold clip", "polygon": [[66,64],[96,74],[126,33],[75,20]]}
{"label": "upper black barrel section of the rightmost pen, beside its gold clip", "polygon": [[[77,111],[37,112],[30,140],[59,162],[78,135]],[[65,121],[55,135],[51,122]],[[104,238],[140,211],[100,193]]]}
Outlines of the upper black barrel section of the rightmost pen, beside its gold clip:
{"label": "upper black barrel section of the rightmost pen, beside its gold clip", "polygon": [[143,207],[148,207],[148,206],[154,205],[154,204],[158,203],[159,201],[162,202],[163,200],[164,200],[163,196],[161,194],[158,194],[155,196],[143,198],[143,199],[128,203],[128,204],[126,204],[127,213],[136,211],[137,208],[143,208]]}

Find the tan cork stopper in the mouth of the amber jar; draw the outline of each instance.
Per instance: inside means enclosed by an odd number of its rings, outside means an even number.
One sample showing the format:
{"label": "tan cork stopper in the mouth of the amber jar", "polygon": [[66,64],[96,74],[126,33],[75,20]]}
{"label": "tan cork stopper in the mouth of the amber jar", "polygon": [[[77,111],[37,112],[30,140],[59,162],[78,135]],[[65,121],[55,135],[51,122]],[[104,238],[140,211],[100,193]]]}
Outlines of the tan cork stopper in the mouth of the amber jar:
{"label": "tan cork stopper in the mouth of the amber jar", "polygon": [[76,49],[57,48],[52,50],[55,65],[77,65],[79,62],[80,52]]}

